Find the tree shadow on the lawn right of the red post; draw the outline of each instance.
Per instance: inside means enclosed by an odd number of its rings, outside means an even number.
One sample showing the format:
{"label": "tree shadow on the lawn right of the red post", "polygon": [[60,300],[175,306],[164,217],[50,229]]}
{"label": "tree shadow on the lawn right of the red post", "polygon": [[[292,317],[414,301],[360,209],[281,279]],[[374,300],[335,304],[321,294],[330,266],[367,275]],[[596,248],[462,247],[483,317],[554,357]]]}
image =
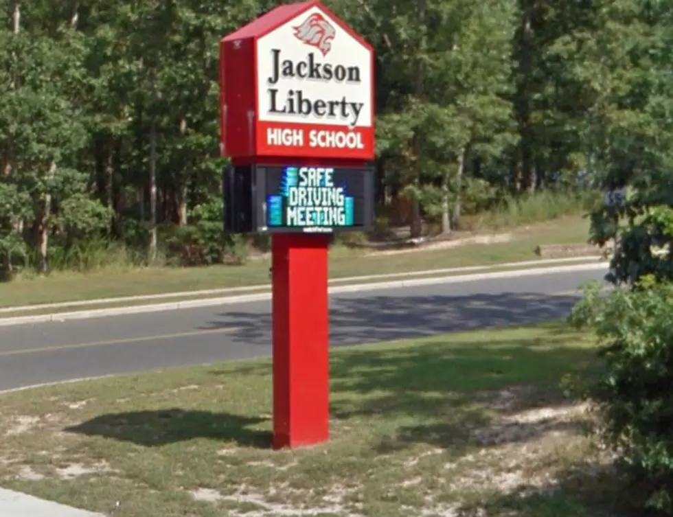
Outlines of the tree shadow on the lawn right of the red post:
{"label": "tree shadow on the lawn right of the red post", "polygon": [[[466,430],[488,424],[494,414],[567,405],[562,379],[584,374],[595,363],[594,350],[560,322],[470,338],[444,336],[385,352],[369,347],[334,354],[332,414],[413,415],[419,424],[400,427],[398,446],[455,448]],[[517,439],[571,426],[531,425]]]}

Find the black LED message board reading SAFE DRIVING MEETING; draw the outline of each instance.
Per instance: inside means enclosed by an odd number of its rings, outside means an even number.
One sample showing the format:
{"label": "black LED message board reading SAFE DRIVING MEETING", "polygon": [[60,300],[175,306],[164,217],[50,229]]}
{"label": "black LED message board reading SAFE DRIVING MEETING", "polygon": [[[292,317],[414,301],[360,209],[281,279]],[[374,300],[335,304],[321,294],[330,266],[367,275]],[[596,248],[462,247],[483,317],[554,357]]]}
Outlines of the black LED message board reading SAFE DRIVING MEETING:
{"label": "black LED message board reading SAFE DRIVING MEETING", "polygon": [[225,173],[225,231],[332,233],[374,226],[374,170],[253,165]]}

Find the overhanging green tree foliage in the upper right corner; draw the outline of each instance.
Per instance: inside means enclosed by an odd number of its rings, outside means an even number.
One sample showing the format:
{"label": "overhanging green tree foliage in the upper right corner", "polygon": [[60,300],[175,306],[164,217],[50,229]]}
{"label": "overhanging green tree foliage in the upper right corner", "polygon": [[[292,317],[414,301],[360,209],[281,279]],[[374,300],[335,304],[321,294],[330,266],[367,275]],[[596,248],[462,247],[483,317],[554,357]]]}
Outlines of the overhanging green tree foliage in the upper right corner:
{"label": "overhanging green tree foliage in the upper right corner", "polygon": [[[615,240],[614,281],[643,275],[669,279],[670,209],[673,205],[673,3],[606,1],[597,16],[604,30],[585,45],[585,76],[595,76],[595,168],[608,190],[628,188],[624,203],[592,215],[592,239]],[[599,65],[599,63],[601,65]],[[596,96],[595,95],[595,96]]]}

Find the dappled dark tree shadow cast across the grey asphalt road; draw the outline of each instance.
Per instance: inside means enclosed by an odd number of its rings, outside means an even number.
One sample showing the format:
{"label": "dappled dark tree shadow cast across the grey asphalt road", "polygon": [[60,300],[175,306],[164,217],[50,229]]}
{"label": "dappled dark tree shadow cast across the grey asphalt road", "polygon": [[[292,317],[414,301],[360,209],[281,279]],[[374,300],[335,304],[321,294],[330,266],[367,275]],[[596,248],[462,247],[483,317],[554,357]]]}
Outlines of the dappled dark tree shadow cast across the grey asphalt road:
{"label": "dappled dark tree shadow cast across the grey asphalt road", "polygon": [[[332,345],[375,343],[455,330],[558,319],[566,317],[578,299],[575,296],[532,292],[336,298],[330,306],[330,341]],[[199,329],[236,328],[229,334],[233,341],[271,342],[271,314],[231,310],[220,316],[220,319],[209,321]]]}

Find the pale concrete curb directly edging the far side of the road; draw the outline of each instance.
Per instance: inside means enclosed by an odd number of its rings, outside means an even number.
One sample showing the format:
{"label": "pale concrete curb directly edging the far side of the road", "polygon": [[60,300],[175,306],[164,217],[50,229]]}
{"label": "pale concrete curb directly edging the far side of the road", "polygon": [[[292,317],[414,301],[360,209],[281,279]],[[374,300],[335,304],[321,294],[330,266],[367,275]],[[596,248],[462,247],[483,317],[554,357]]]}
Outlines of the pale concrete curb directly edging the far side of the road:
{"label": "pale concrete curb directly edging the far side of the road", "polygon": [[[514,271],[495,271],[492,273],[476,273],[472,275],[452,275],[444,277],[424,277],[417,279],[402,279],[390,282],[372,282],[369,284],[354,284],[347,286],[330,286],[330,295],[345,292],[360,292],[365,290],[385,290],[404,287],[430,286],[435,284],[457,284],[460,282],[475,282],[477,280],[501,279],[513,277],[528,277],[534,275],[548,275],[549,273],[571,273],[573,271],[598,271],[606,270],[608,262],[595,262],[593,264],[575,264],[572,266],[556,266],[546,268],[532,268]],[[60,312],[56,314],[38,314],[35,316],[20,316],[0,319],[0,326],[25,325],[27,323],[47,323],[49,321],[60,322],[76,319],[100,318],[120,316],[123,314],[142,314],[146,312],[163,312],[167,310],[180,310],[199,307],[212,307],[228,305],[230,303],[246,303],[250,301],[271,300],[271,292],[260,292],[251,295],[238,295],[197,300],[175,301],[169,303],[156,303],[151,305],[139,305],[117,307],[109,309],[80,310],[76,312]]]}

